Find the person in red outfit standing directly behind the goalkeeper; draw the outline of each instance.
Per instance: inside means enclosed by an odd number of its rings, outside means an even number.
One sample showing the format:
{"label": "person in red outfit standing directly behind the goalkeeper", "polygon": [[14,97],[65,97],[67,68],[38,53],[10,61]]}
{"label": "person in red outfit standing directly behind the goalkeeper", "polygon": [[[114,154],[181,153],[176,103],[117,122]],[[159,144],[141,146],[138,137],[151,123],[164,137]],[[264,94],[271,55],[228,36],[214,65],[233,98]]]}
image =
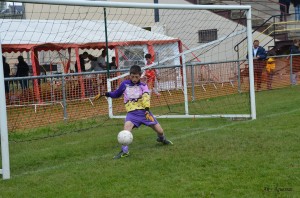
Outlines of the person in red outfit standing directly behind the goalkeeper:
{"label": "person in red outfit standing directly behind the goalkeeper", "polygon": [[[146,67],[149,67],[149,66],[153,65],[153,62],[152,62],[151,58],[152,58],[151,54],[146,54],[145,55]],[[158,93],[158,91],[154,87],[155,86],[155,80],[156,79],[159,80],[157,71],[155,69],[146,69],[143,72],[141,78],[144,78],[144,77],[146,77],[146,82],[147,82],[147,86],[149,88],[150,94],[152,93],[152,90],[153,90],[153,92],[157,96],[159,96],[160,93]]]}

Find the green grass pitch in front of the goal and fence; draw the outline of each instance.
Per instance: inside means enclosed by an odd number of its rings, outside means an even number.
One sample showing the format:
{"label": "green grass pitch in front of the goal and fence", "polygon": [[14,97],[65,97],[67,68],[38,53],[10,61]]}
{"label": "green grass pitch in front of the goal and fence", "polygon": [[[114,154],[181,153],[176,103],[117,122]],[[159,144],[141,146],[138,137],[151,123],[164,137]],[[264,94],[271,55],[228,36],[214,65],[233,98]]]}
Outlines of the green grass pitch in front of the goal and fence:
{"label": "green grass pitch in front of the goal and fence", "polygon": [[134,130],[121,160],[122,120],[31,141],[12,134],[0,197],[299,197],[300,87],[256,100],[257,120],[160,119],[173,146]]}

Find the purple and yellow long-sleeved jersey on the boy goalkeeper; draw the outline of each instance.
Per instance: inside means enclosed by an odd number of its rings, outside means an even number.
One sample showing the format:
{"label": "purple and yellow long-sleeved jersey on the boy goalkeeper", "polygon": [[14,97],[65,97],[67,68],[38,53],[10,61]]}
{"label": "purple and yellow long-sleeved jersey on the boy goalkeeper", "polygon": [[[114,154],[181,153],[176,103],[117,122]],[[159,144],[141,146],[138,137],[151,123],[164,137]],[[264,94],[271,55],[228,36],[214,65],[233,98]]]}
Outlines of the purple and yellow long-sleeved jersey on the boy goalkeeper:
{"label": "purple and yellow long-sleeved jersey on the boy goalkeeper", "polygon": [[131,80],[125,80],[120,87],[109,93],[111,98],[119,98],[124,94],[124,104],[127,112],[150,108],[149,89],[145,83],[134,84]]}

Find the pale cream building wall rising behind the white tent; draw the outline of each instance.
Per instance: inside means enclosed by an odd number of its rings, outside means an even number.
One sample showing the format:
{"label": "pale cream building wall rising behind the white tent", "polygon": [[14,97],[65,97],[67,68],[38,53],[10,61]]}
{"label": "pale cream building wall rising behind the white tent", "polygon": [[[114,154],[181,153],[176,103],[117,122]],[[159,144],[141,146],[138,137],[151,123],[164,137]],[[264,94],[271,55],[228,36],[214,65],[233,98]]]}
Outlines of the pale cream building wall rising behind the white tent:
{"label": "pale cream building wall rising behind the white tent", "polygon": [[[112,0],[111,2],[138,2],[138,3],[153,3],[151,0]],[[160,0],[162,4],[190,4],[183,0]],[[90,8],[80,6],[56,6],[56,5],[43,5],[43,4],[26,4],[26,18],[31,19],[89,19],[89,20],[103,20],[103,8]],[[41,12],[36,12],[41,10]],[[153,27],[154,31],[159,31],[167,36],[179,38],[189,48],[195,48],[201,43],[198,43],[198,31],[205,29],[218,29],[218,38],[228,35],[230,32],[235,30],[241,30],[244,27],[237,25],[237,23],[214,14],[207,10],[202,11],[191,11],[190,14],[185,12],[180,13],[180,10],[159,10],[160,22],[154,22],[154,11],[153,9],[118,9],[118,8],[107,8],[108,20],[122,20],[130,24],[139,27]],[[259,33],[255,33],[253,36],[256,38]],[[208,52],[205,50],[195,51],[195,56],[199,56],[202,62],[211,61],[222,61],[222,60],[233,60],[237,58],[236,52],[234,52],[234,46],[245,37],[245,34],[236,36],[235,38],[222,42],[218,46],[210,49]],[[265,42],[268,42],[271,38],[264,38]],[[272,45],[269,44],[269,45]],[[243,52],[241,58],[245,58],[246,46],[242,46]],[[267,48],[267,47],[266,47]],[[183,48],[186,50],[186,48]],[[205,52],[205,53],[204,53]],[[189,54],[187,60],[192,60],[193,55]]]}

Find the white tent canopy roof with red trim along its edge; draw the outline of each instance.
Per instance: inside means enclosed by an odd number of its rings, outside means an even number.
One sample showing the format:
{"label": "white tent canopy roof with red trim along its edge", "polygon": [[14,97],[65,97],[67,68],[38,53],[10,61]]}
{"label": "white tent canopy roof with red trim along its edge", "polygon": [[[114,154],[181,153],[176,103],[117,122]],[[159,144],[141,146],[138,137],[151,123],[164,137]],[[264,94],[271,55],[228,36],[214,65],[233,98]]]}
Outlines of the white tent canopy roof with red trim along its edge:
{"label": "white tent canopy roof with red trim along its edge", "polygon": [[[109,48],[178,41],[120,20],[107,21],[107,35]],[[0,36],[3,52],[100,49],[106,40],[103,20],[0,19]]]}

